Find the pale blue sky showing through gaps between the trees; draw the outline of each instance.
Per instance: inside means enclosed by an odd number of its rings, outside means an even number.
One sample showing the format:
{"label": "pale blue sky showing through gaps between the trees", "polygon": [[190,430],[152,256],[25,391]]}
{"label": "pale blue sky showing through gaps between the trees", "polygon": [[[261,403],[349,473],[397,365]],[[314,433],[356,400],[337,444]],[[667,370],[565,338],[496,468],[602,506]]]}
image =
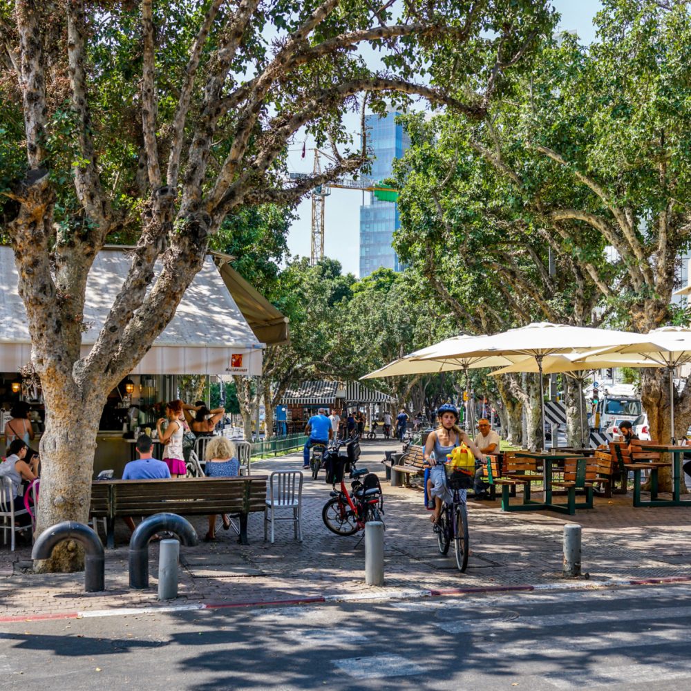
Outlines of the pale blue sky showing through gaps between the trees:
{"label": "pale blue sky showing through gaps between the trees", "polygon": [[[595,37],[592,19],[600,10],[600,0],[553,0],[552,5],[560,13],[560,30],[575,31],[585,42]],[[353,132],[359,130],[359,117],[350,118]],[[290,169],[309,173],[314,164],[314,152],[310,151],[313,142],[307,140],[305,158],[302,158],[303,142],[296,142],[288,155]],[[368,197],[369,193],[365,193]],[[359,276],[359,234],[360,205],[363,193],[356,190],[332,189],[326,198],[324,211],[324,254],[338,259],[343,272]],[[310,255],[310,234],[312,228],[312,200],[308,196],[297,209],[298,218],[294,221],[288,235],[288,248],[291,254]]]}

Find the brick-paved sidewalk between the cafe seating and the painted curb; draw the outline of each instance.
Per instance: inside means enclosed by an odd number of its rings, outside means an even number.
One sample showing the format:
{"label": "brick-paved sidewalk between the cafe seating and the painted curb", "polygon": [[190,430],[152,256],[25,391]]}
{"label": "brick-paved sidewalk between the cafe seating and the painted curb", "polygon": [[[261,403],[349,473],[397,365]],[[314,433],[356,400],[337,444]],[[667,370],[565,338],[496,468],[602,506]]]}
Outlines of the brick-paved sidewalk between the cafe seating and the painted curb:
{"label": "brick-paved sidewalk between the cafe seating and the painted curb", "polygon": [[[502,513],[499,501],[468,502],[471,556],[468,570],[455,568],[453,547],[447,557],[424,510],[422,491],[392,488],[379,461],[395,442],[363,442],[359,467],[379,473],[384,486],[386,522],[384,589],[364,585],[364,544],[360,535],[336,536],[321,520],[331,489],[305,475],[303,542],[293,539],[292,524],[279,523],[276,542],[264,542],[260,514],[249,518],[249,546],[232,531],[217,532],[218,542],[180,548],[182,568],[178,600],[185,603],[275,601],[404,589],[454,589],[558,585],[564,583],[562,526],[583,526],[583,571],[591,581],[691,577],[691,514],[674,509],[633,509],[631,498],[596,498],[595,509],[576,516],[545,512]],[[256,462],[255,474],[299,468],[301,456]],[[191,519],[200,538],[206,519]],[[220,522],[220,521],[219,521]],[[117,527],[117,548],[106,550],[106,591],[84,593],[84,574],[32,574],[30,547],[11,553],[0,545],[0,617],[41,616],[61,612],[158,605],[158,545],[149,549],[150,585],[129,589],[127,531]],[[583,580],[583,587],[587,587]]]}

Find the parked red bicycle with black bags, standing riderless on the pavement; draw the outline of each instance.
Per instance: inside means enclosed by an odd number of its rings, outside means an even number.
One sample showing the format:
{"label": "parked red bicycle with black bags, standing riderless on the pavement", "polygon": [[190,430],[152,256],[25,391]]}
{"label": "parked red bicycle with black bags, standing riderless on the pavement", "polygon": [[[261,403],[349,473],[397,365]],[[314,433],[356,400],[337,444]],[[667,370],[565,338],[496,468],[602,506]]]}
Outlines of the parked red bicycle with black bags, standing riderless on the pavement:
{"label": "parked red bicycle with black bags, standing riderless on the pavement", "polygon": [[[341,449],[341,446],[345,446],[345,449]],[[384,513],[384,495],[379,477],[367,468],[355,468],[359,453],[357,437],[354,437],[339,442],[325,458],[334,489],[330,500],[324,504],[321,518],[325,526],[337,535],[353,535],[363,530],[367,522],[381,520]],[[346,474],[352,480],[350,490],[345,485]],[[337,483],[340,483],[338,490]]]}

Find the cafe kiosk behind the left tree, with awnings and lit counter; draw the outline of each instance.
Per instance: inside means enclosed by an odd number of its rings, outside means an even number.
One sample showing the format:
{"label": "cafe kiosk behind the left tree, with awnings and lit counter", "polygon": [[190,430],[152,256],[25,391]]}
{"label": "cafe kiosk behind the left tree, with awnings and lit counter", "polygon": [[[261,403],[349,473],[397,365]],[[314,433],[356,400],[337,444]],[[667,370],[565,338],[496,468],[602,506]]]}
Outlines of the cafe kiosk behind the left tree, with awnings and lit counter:
{"label": "cafe kiosk behind the left tree, with awnings and lit counter", "polygon": [[[107,246],[94,260],[86,285],[83,356],[95,343],[129,272],[131,249]],[[97,435],[95,473],[112,469],[120,477],[132,457],[133,430],[155,426],[162,415],[160,405],[178,396],[179,375],[261,375],[265,345],[287,341],[287,318],[229,265],[231,259],[218,252],[207,255],[171,323],[138,366],[108,393]],[[157,264],[157,275],[160,268]],[[40,381],[22,375],[31,342],[10,247],[0,247],[0,281],[1,430],[12,404],[26,401],[37,435],[32,446],[37,448],[46,411]]]}

